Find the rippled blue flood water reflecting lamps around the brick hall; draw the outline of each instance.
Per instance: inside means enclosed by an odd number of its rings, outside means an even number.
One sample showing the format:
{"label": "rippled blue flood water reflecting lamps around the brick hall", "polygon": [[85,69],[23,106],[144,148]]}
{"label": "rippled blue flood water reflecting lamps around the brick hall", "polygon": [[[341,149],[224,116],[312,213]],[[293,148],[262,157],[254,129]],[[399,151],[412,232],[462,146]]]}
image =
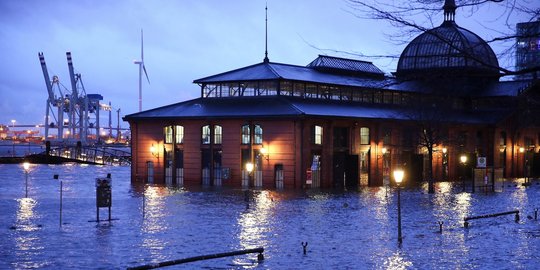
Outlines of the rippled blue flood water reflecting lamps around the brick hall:
{"label": "rippled blue flood water reflecting lamps around the brick hall", "polygon": [[[112,221],[95,222],[95,178],[112,175]],[[58,174],[59,179],[53,179]],[[263,247],[257,254],[164,269],[533,269],[540,263],[540,185],[495,193],[452,183],[394,189],[249,190],[133,186],[129,167],[0,165],[0,269],[125,269]],[[60,181],[62,222],[60,223]],[[463,218],[511,210],[514,215]],[[539,214],[540,215],[540,214]],[[539,217],[540,218],[540,217]],[[100,211],[107,220],[107,208]],[[442,233],[439,221],[444,222]],[[304,255],[302,242],[307,242]]]}

